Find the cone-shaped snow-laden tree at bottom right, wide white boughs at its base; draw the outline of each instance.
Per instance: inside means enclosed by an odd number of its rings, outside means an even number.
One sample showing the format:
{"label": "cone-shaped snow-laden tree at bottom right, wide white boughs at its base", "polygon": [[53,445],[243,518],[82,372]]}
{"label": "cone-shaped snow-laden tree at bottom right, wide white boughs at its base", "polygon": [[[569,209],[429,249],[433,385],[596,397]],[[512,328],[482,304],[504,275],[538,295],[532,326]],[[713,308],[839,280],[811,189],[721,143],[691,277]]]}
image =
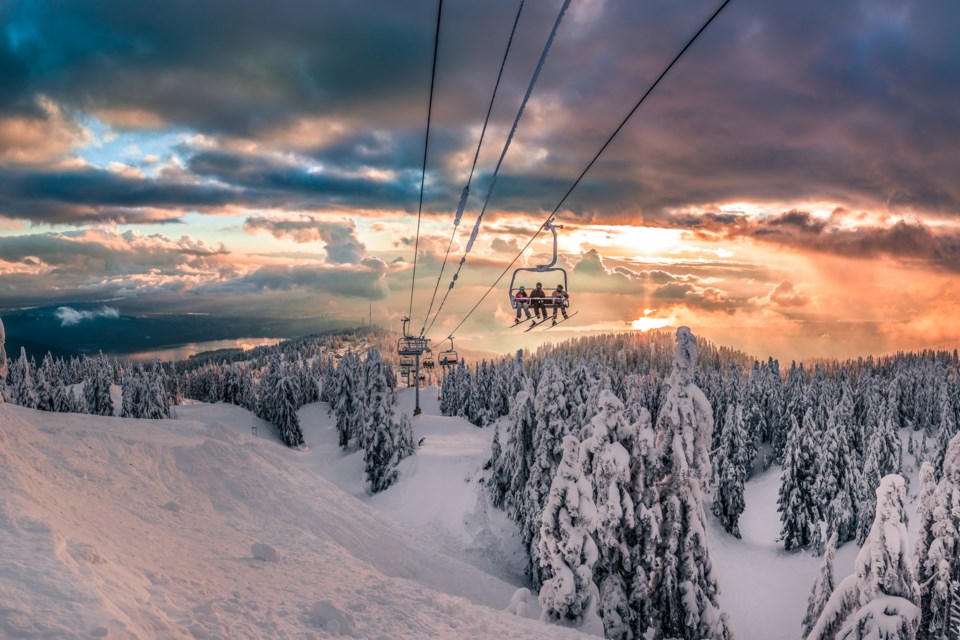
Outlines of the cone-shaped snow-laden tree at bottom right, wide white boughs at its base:
{"label": "cone-shaped snow-laden tree at bottom right, wide white boughs at its base", "polygon": [[904,522],[906,484],[898,475],[885,476],[876,495],[876,514],[854,574],[837,585],[808,640],[916,638],[920,589]]}

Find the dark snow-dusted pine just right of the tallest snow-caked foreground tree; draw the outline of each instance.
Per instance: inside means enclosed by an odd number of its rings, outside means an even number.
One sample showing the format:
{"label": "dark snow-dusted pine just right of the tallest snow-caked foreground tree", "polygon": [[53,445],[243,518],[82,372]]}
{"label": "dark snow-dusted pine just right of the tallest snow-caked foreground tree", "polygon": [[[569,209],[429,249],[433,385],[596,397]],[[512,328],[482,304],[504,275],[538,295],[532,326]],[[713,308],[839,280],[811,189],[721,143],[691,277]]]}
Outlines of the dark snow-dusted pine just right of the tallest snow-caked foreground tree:
{"label": "dark snow-dusted pine just right of the tallest snow-caked foreground tree", "polygon": [[724,530],[736,538],[740,537],[738,522],[746,506],[743,499],[747,479],[746,439],[743,409],[740,405],[730,405],[714,463],[716,492],[712,509]]}

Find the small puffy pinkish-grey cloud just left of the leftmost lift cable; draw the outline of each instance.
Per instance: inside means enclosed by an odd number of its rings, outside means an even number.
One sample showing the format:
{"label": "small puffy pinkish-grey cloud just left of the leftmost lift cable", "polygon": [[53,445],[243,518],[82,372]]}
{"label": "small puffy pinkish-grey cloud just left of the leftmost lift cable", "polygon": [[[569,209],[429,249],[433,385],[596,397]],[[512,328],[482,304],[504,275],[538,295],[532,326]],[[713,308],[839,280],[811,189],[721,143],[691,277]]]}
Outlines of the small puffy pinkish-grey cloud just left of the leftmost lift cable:
{"label": "small puffy pinkish-grey cloud just left of the leftmost lift cable", "polygon": [[294,242],[323,242],[327,260],[335,264],[358,264],[367,254],[366,246],[357,237],[353,220],[323,220],[316,216],[296,218],[250,217],[243,223],[245,231],[267,231],[278,239]]}

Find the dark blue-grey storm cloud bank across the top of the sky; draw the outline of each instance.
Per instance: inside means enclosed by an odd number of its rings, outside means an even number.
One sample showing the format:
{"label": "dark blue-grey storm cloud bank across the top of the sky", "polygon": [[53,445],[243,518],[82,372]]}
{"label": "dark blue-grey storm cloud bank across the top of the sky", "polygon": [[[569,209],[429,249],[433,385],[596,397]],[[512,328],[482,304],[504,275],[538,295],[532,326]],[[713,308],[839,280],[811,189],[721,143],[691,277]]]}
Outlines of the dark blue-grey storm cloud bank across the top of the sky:
{"label": "dark blue-grey storm cloud bank across the top of the sky", "polygon": [[[575,4],[508,155],[492,205],[550,210],[609,131],[715,2]],[[526,88],[559,2],[528,3],[474,192]],[[430,211],[449,213],[449,169],[473,137],[515,2],[445,7],[428,166]],[[35,190],[3,214],[103,219],[97,207],[239,206],[410,209],[416,201],[435,5],[290,0],[37,3],[0,7],[0,117],[36,115],[36,97],[97,113],[135,109],[218,141],[283,151],[276,131],[304,118],[334,135],[297,141],[310,173],[257,153],[196,153],[189,168],[236,188],[113,185],[119,196],[61,188],[50,215]],[[718,202],[816,199],[918,215],[960,209],[960,6],[948,0],[728,7],[605,152],[567,203],[582,221],[662,223]],[[221,140],[222,139],[222,140]],[[271,147],[273,145],[273,147]],[[299,162],[299,161],[298,161]],[[376,168],[393,178],[363,177]],[[71,176],[60,179],[70,183]],[[39,180],[39,178],[38,178]],[[54,193],[58,190],[53,189]],[[189,191],[184,192],[184,191]],[[128,200],[124,205],[113,200]],[[476,197],[472,199],[476,203]],[[192,204],[191,204],[192,203]],[[83,209],[71,217],[70,206]],[[56,211],[57,207],[63,210]]]}

